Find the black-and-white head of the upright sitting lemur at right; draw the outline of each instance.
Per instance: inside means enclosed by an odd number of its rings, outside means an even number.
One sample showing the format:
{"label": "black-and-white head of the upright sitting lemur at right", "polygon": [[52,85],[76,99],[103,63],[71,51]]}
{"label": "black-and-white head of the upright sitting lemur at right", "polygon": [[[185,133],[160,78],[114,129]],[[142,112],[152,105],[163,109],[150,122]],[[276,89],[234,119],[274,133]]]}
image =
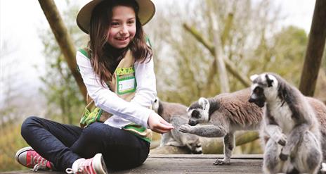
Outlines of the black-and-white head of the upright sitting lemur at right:
{"label": "black-and-white head of the upright sitting lemur at right", "polygon": [[250,95],[249,102],[262,108],[265,106],[266,99],[271,94],[277,93],[278,80],[273,75],[266,73],[252,75],[250,80],[252,80],[252,94]]}

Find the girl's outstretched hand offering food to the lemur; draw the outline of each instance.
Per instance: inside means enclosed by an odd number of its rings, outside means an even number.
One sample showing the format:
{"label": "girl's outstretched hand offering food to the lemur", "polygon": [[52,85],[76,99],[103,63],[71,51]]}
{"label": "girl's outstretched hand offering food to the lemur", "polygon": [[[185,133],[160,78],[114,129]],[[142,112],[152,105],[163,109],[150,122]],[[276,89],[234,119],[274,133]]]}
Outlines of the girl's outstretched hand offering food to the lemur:
{"label": "girl's outstretched hand offering food to the lemur", "polygon": [[150,129],[157,133],[165,133],[168,132],[171,129],[174,129],[174,127],[167,123],[166,120],[164,120],[161,116],[157,115],[157,113],[152,112],[150,114],[150,117],[148,117],[148,126]]}

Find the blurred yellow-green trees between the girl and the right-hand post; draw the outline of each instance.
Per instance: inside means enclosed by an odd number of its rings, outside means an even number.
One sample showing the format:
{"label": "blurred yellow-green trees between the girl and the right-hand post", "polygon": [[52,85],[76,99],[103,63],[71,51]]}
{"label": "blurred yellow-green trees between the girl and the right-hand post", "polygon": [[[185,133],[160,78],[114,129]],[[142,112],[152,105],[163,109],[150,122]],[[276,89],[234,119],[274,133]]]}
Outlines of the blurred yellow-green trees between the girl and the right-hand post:
{"label": "blurred yellow-green trees between the girl and the right-hand post", "polygon": [[[190,1],[193,6],[182,4],[182,8],[177,4],[164,8],[168,12],[158,9],[155,22],[146,30],[155,45],[157,92],[162,100],[187,105],[220,92],[214,55],[183,29],[183,23],[213,43],[210,21],[216,20],[221,36],[218,46],[245,76],[272,71],[298,83],[307,36],[292,26],[276,30],[280,10],[271,1]],[[216,18],[210,19],[210,11]],[[215,75],[208,77],[211,72]],[[230,73],[229,82],[231,91],[244,87]]]}

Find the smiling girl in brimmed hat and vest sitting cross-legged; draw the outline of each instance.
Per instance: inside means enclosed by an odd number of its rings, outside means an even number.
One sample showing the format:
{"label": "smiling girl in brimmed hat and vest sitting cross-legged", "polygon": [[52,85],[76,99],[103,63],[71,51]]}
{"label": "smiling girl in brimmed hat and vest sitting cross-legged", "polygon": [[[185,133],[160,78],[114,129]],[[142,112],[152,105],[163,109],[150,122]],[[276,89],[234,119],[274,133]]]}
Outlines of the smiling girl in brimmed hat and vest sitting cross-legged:
{"label": "smiling girl in brimmed hat and vest sitting cross-legged", "polygon": [[81,8],[77,25],[90,37],[76,56],[89,94],[81,118],[86,127],[27,118],[21,133],[31,147],[17,152],[19,163],[34,171],[107,173],[106,166],[126,169],[145,161],[150,130],[173,129],[150,110],[155,74],[142,25],[154,13],[150,0],[93,0]]}

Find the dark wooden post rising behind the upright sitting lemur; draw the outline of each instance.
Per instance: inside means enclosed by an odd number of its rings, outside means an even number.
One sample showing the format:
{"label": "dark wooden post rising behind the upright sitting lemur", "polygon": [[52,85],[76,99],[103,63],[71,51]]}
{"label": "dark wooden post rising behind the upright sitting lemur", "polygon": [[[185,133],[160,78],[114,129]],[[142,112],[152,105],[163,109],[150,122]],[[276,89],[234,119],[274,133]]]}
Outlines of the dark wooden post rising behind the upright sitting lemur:
{"label": "dark wooden post rising behind the upright sitting lemur", "polygon": [[313,22],[309,34],[304,69],[301,73],[299,89],[306,96],[313,96],[317,82],[322,53],[326,39],[326,0],[315,1]]}

